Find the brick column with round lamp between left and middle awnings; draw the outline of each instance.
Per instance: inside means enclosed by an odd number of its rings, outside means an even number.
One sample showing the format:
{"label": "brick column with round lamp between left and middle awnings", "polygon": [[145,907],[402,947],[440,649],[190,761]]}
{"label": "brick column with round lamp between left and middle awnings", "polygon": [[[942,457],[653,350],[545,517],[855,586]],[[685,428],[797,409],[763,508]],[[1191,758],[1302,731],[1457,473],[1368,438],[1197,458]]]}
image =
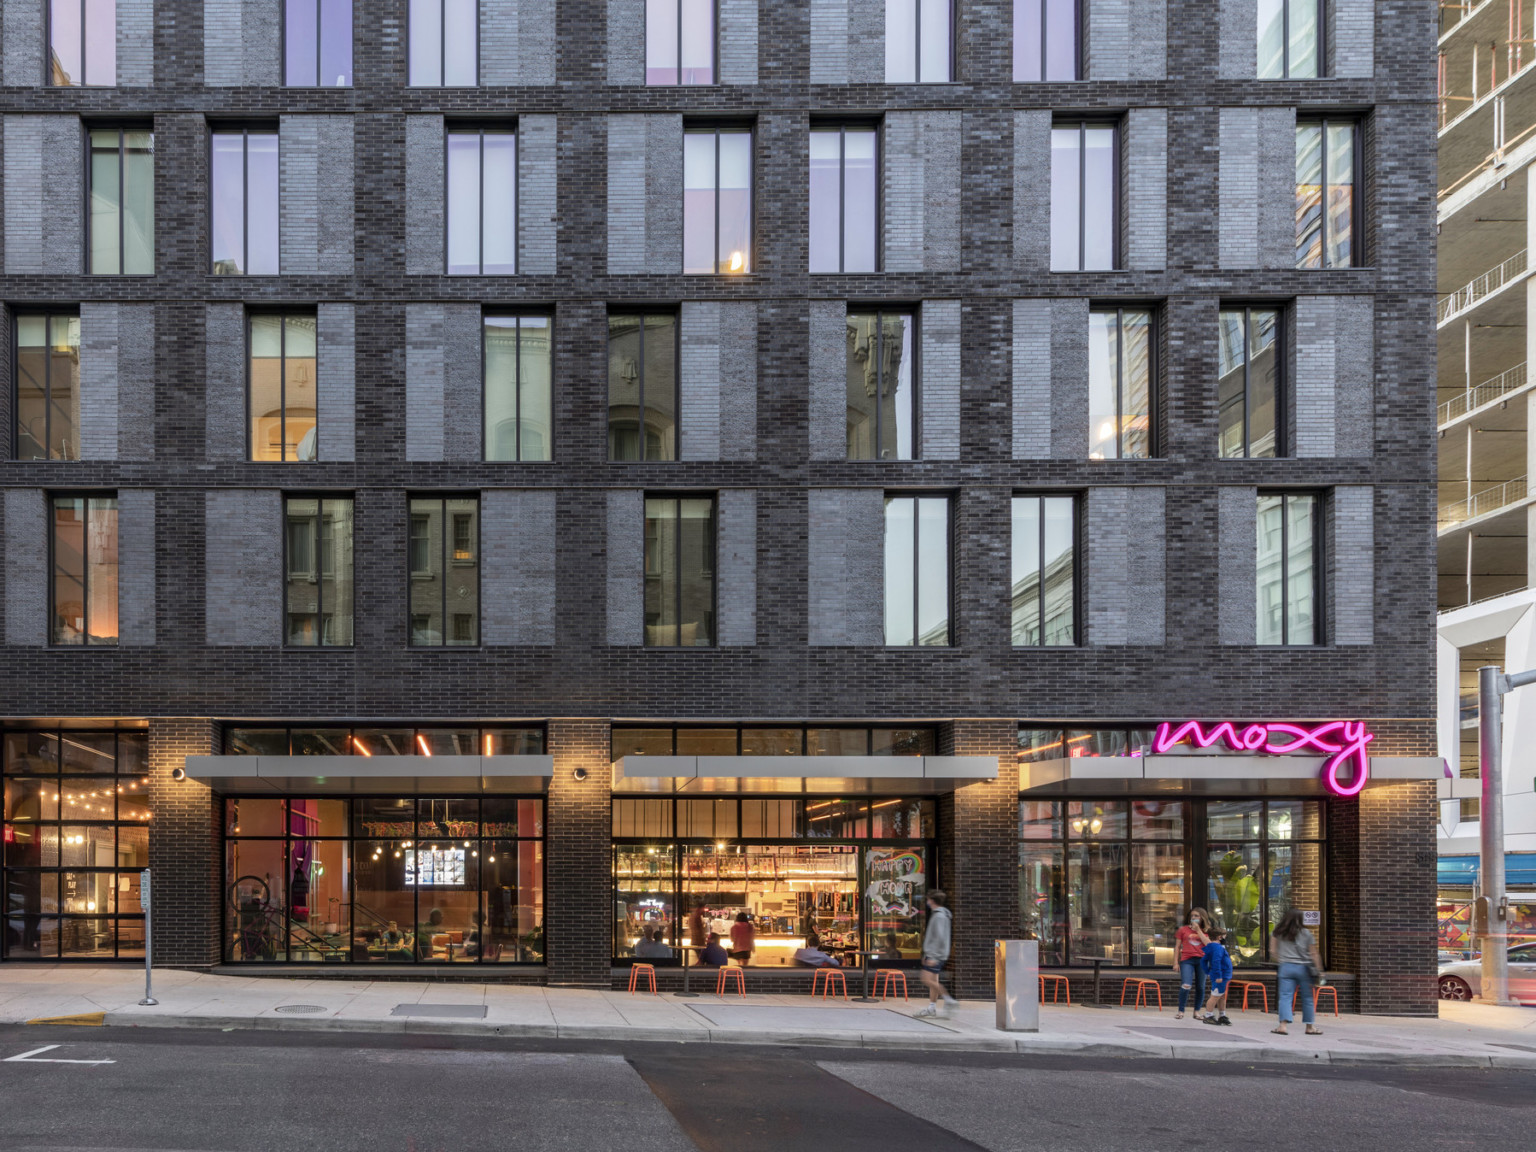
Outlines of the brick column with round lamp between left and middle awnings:
{"label": "brick column with round lamp between left and middle awnings", "polygon": [[[607,720],[550,720],[544,828],[548,982],[607,988],[613,958],[613,773]],[[576,770],[587,779],[578,780]]]}

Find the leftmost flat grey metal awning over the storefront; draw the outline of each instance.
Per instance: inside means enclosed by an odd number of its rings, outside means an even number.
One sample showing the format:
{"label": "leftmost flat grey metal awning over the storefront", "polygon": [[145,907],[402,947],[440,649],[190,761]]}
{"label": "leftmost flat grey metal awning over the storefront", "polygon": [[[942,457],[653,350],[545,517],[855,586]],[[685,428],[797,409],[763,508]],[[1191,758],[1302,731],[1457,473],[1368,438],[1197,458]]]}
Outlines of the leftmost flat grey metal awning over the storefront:
{"label": "leftmost flat grey metal awning over the storefront", "polygon": [[553,756],[189,756],[215,793],[542,793]]}

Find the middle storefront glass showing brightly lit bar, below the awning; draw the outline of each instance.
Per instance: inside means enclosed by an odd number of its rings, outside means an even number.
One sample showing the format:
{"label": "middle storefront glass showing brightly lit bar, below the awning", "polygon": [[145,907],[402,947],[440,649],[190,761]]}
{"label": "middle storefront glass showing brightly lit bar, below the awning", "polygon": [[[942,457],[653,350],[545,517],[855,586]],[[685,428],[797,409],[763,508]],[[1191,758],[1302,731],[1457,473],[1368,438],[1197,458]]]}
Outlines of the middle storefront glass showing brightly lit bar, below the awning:
{"label": "middle storefront glass showing brightly lit bar, below the awning", "polygon": [[[733,842],[731,828],[782,843]],[[814,942],[845,963],[860,942],[882,952],[876,963],[920,952],[932,799],[616,799],[613,836],[617,960],[677,963],[680,945],[710,932],[730,951],[739,914],[753,925],[750,965],[794,966]]]}

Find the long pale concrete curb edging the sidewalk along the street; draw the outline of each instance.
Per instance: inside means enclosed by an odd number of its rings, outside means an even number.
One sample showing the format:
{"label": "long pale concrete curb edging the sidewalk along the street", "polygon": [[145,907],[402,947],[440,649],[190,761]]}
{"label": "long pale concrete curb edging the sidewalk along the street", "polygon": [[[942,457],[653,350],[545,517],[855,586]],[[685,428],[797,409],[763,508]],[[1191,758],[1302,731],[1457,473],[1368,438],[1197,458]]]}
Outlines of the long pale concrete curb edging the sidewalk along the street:
{"label": "long pale concrete curb edging the sidewalk along the street", "polygon": [[885,1052],[1012,1052],[1025,1057],[1078,1057],[1118,1060],[1186,1060],[1244,1064],[1327,1064],[1332,1068],[1498,1068],[1536,1071],[1536,1055],[1476,1052],[1372,1052],[1349,1048],[1269,1048],[1232,1043],[1160,1043],[1155,1040],[1071,1040],[1064,1037],[1014,1038],[965,1032],[912,1037],[911,1032],[763,1032],[740,1028],[616,1028],[613,1025],[495,1025],[455,1020],[367,1020],[347,1017],[293,1018],[280,1015],[152,1015],[144,1011],[106,1014],[108,1028],[180,1028],[249,1032],[323,1032],[330,1035],[461,1035],[538,1040],[608,1040],[677,1044],[754,1044],[765,1048],[865,1048]]}

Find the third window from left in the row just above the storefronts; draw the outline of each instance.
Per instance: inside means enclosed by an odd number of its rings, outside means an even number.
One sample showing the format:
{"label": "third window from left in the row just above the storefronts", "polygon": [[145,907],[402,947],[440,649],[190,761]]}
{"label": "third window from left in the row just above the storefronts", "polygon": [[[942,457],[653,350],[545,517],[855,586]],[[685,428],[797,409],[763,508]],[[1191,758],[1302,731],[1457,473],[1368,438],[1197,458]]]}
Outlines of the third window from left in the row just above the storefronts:
{"label": "third window from left in the row just above the storefronts", "polygon": [[[410,501],[410,642],[415,647],[479,644],[479,499],[413,496]],[[444,621],[450,627],[444,628]]]}

